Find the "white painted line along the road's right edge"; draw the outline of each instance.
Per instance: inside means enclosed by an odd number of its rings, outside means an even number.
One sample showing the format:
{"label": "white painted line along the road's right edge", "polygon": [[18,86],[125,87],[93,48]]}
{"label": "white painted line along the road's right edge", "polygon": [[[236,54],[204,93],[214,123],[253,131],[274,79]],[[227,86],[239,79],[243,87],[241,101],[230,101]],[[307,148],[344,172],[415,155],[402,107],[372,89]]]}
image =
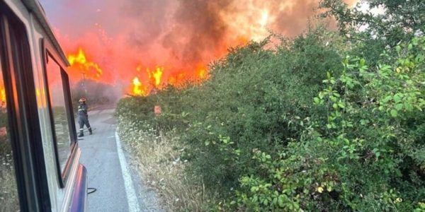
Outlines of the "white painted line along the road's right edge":
{"label": "white painted line along the road's right edge", "polygon": [[117,142],[118,158],[120,159],[121,171],[123,173],[125,194],[127,194],[128,210],[129,212],[138,212],[140,211],[139,201],[137,201],[135,188],[132,184],[131,175],[128,170],[127,160],[125,160],[123,148],[121,148],[120,137],[118,136],[117,131],[115,131],[115,141]]}

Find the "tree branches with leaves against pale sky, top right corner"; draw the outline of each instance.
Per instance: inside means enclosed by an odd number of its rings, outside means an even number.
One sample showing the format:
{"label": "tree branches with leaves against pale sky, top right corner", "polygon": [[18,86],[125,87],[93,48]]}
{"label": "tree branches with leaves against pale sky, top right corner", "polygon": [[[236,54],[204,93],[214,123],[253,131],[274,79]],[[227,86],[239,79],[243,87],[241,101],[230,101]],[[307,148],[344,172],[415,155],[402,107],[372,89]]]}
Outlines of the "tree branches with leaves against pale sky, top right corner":
{"label": "tree branches with leaves against pale sky, top right corner", "polygon": [[[368,9],[361,10],[361,4]],[[341,33],[352,39],[382,40],[394,47],[424,33],[425,1],[364,0],[361,4],[348,8],[342,0],[322,0],[320,7],[326,10],[322,15],[336,18]]]}

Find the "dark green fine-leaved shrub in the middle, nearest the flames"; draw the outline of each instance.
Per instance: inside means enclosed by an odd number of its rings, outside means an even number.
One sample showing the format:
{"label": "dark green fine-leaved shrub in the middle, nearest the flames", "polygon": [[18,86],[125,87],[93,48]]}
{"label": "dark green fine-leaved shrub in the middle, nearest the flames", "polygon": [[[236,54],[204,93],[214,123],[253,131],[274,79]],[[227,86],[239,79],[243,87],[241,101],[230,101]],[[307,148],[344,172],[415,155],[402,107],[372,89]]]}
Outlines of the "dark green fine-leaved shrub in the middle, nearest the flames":
{"label": "dark green fine-leaved shrub in the middle, nearest the flames", "polygon": [[[251,160],[254,149],[277,154],[300,136],[300,117],[322,110],[312,109],[311,100],[327,71],[343,67],[329,45],[333,37],[320,28],[282,40],[274,50],[264,47],[268,40],[230,49],[210,66],[210,80],[203,85],[122,100],[118,114],[181,129],[191,147],[186,152],[191,171],[226,196],[240,176],[261,171]],[[154,105],[162,106],[162,115],[154,116]]]}

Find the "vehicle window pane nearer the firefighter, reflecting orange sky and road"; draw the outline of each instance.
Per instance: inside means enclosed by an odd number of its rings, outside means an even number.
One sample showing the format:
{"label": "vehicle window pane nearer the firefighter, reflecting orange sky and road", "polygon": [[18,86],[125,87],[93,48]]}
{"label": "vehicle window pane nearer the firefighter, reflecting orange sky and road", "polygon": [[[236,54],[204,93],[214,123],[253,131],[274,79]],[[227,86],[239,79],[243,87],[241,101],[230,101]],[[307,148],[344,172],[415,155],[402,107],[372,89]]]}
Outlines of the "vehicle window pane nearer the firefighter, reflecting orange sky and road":
{"label": "vehicle window pane nearer the firefighter, reflecting orange sky and road", "polygon": [[65,105],[64,85],[60,66],[50,55],[46,64],[47,84],[49,87],[50,106],[52,107],[53,124],[57,143],[60,169],[63,172],[71,153],[69,136],[69,120]]}

